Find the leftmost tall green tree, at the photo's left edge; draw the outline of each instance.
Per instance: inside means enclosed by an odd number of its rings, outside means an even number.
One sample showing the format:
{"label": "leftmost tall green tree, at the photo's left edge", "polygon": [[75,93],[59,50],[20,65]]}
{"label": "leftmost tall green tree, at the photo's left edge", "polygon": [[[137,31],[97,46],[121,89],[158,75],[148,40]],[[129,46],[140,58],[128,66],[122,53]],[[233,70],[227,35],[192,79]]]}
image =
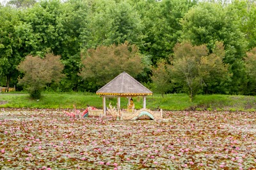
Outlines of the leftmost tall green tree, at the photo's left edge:
{"label": "leftmost tall green tree, at the photo's left edge", "polygon": [[30,24],[22,22],[23,13],[10,6],[0,8],[0,75],[6,79],[7,89],[19,76],[17,65],[36,47],[36,37]]}

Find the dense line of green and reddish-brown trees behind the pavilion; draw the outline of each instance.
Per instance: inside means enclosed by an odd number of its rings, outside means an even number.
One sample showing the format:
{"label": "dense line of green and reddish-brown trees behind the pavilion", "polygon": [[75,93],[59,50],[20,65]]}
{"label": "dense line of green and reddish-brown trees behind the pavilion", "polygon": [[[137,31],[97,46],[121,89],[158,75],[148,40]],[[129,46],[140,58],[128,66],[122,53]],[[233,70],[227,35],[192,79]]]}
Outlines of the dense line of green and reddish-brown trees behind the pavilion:
{"label": "dense line of green and reddish-brown trees behind the pavilion", "polygon": [[27,88],[20,83],[26,72],[44,77],[54,70],[25,59],[60,56],[60,80],[49,79],[44,90],[94,92],[125,71],[161,94],[255,95],[255,47],[256,3],[250,0],[0,5],[0,86],[18,90]]}

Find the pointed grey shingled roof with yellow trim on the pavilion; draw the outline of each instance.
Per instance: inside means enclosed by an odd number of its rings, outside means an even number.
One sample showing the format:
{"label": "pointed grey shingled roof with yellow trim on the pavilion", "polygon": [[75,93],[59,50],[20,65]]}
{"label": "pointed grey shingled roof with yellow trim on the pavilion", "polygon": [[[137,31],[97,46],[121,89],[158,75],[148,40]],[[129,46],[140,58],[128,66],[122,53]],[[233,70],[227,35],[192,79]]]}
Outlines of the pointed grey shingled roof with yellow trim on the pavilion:
{"label": "pointed grey shingled roof with yellow trim on the pavilion", "polygon": [[143,96],[152,95],[152,91],[136,81],[126,72],[120,73],[115,79],[96,91],[97,95]]}

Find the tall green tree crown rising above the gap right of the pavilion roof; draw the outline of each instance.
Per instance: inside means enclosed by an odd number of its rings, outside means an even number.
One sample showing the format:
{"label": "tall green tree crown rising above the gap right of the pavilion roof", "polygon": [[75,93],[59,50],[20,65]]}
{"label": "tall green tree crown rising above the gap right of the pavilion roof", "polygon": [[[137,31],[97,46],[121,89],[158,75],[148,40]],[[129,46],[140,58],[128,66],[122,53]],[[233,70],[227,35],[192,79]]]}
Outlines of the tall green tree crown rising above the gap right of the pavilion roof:
{"label": "tall green tree crown rising above the gap right of the pavilion roof", "polygon": [[182,30],[180,19],[195,4],[195,1],[187,0],[147,2],[150,8],[147,11],[142,11],[145,13],[143,22],[147,27],[143,31],[145,47],[141,47],[141,50],[152,56],[154,64],[157,63],[158,59],[168,59],[172,54],[172,49],[180,38],[180,31]]}

